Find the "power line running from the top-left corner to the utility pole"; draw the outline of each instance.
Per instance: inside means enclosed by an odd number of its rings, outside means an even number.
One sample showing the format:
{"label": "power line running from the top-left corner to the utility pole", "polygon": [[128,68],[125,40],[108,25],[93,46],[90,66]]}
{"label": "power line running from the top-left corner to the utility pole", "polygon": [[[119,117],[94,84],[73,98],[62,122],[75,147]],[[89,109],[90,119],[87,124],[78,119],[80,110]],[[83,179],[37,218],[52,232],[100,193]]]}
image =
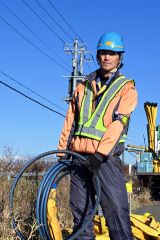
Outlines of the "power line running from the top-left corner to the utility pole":
{"label": "power line running from the top-left corner to the utility pole", "polygon": [[[24,23],[11,9],[8,8],[1,0],[0,3],[5,7],[19,22],[21,22],[41,43],[43,43],[49,50],[51,50],[63,63],[67,64],[38,34],[32,31],[26,23]],[[68,65],[69,66],[69,65]]]}

